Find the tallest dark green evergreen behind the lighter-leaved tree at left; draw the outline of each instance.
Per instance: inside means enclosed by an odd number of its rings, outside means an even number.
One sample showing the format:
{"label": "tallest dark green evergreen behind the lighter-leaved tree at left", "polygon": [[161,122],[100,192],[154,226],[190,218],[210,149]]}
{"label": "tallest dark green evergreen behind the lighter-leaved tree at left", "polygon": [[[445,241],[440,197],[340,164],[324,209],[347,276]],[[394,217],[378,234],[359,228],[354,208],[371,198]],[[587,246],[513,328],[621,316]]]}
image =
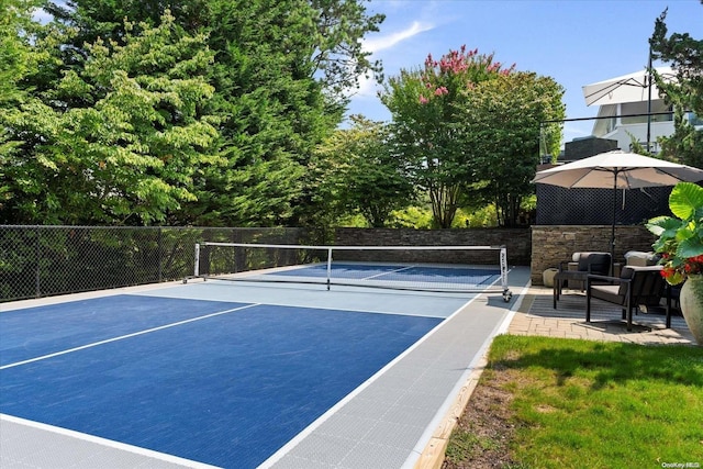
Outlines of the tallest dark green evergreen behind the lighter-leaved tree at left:
{"label": "tallest dark green evergreen behind the lighter-leaved tree at left", "polygon": [[[219,116],[226,163],[197,180],[197,200],[179,223],[297,224],[312,210],[305,168],[317,143],[342,120],[344,91],[360,74],[380,71],[360,38],[378,31],[361,0],[176,0],[176,22],[207,32],[215,54],[208,80],[215,92],[208,112]],[[122,19],[156,25],[158,0],[71,0],[51,7],[79,35],[67,54],[81,56],[86,40],[123,41]]]}

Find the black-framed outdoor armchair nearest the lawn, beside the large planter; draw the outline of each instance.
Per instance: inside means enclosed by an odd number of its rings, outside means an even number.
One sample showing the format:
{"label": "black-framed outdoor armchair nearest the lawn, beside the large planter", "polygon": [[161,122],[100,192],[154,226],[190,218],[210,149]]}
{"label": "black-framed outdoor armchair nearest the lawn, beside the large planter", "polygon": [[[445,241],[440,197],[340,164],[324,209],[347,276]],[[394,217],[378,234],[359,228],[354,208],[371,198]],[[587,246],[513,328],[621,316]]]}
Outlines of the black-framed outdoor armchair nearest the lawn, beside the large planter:
{"label": "black-framed outdoor armchair nearest the lawn, beside the large planter", "polygon": [[620,277],[587,277],[585,322],[591,322],[591,299],[596,298],[622,306],[623,320],[627,321],[627,331],[633,327],[633,312],[641,305],[662,308],[661,300],[667,298],[667,327],[671,327],[671,289],[661,277],[661,266],[625,266]]}

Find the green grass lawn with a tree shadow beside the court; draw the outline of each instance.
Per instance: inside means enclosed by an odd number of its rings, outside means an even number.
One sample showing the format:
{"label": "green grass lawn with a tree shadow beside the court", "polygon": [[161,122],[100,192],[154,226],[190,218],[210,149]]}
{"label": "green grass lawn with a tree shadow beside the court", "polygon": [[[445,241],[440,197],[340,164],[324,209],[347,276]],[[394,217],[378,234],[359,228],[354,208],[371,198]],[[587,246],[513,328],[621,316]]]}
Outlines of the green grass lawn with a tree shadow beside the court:
{"label": "green grass lawn with a tree shadow beside the court", "polygon": [[445,468],[703,468],[703,347],[499,336],[446,455]]}

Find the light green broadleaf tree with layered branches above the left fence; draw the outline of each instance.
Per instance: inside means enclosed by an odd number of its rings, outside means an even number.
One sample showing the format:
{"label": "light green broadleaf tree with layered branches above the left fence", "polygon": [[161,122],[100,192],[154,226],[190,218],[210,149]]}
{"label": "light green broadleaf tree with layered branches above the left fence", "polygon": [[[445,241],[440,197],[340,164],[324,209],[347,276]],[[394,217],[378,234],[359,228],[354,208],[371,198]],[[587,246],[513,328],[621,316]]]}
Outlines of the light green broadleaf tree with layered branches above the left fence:
{"label": "light green broadleaf tree with layered branches above the left fence", "polygon": [[[215,120],[203,115],[213,89],[204,79],[212,53],[166,14],[124,45],[85,45],[81,68],[62,67],[70,30],[49,25],[35,38],[62,78],[3,113],[16,143],[4,182],[14,223],[150,224],[193,200],[193,179],[216,163]],[[43,69],[26,82],[42,82]],[[55,75],[54,70],[49,75]]]}

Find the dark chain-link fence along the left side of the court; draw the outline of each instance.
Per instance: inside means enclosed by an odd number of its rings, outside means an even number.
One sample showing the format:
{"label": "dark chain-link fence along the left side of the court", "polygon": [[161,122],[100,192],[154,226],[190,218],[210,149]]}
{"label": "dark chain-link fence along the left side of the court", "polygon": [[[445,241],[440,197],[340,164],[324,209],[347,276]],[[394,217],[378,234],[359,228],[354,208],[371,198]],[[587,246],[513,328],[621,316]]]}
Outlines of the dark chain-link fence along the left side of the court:
{"label": "dark chain-link fence along the left side of the court", "polygon": [[0,302],[183,279],[203,241],[315,239],[303,228],[0,225]]}

